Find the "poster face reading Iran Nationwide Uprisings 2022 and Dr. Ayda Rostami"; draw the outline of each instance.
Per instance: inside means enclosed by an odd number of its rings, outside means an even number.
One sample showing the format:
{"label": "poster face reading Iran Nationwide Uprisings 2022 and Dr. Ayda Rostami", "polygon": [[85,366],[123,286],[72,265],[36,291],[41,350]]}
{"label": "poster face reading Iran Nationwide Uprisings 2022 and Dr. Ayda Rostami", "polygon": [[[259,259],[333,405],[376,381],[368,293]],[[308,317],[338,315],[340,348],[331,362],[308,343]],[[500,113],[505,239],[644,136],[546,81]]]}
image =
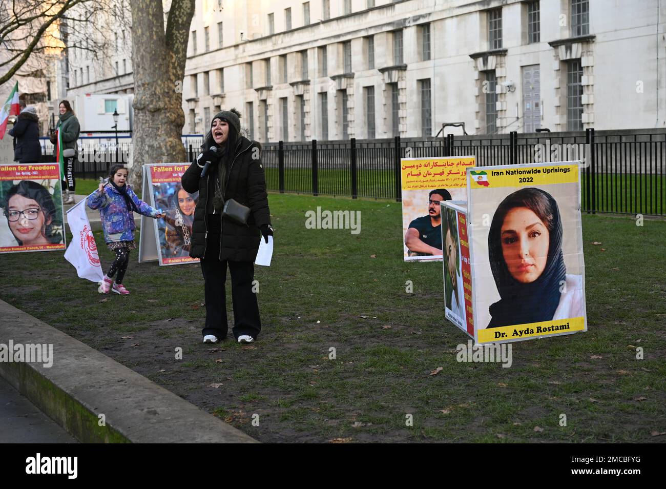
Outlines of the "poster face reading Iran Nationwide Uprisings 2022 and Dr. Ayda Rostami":
{"label": "poster face reading Iran Nationwide Uprisings 2022 and Dr. Ayda Rostami", "polygon": [[467,170],[474,339],[587,331],[579,162]]}

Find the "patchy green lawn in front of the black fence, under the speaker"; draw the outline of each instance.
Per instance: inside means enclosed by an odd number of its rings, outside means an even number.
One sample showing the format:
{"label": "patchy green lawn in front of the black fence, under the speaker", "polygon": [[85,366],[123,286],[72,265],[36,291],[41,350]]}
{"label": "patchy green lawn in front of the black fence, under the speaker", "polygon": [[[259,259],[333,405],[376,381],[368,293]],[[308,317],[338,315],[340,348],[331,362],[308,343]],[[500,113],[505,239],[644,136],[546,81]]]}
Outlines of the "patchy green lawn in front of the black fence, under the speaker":
{"label": "patchy green lawn in front of the black fence, under the speaker", "polygon": [[[502,368],[456,361],[468,336],[444,320],[442,263],[403,262],[399,203],[269,200],[276,254],[256,266],[252,345],[200,344],[197,265],[133,254],[132,293],[102,297],[61,252],[7,254],[0,297],[262,441],[664,441],[651,432],[666,431],[665,221],[583,215],[588,332],[513,343]],[[306,229],[317,206],[360,210],[361,233]]]}

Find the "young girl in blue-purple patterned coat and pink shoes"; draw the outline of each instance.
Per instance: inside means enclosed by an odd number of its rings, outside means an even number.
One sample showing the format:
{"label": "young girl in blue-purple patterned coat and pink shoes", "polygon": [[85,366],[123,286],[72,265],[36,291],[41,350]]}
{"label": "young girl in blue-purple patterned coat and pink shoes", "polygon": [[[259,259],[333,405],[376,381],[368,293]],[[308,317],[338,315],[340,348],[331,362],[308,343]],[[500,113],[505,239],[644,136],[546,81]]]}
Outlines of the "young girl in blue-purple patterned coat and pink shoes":
{"label": "young girl in blue-purple patterned coat and pink shoes", "polygon": [[[99,189],[88,197],[87,205],[91,209],[99,209],[102,221],[104,239],[109,250],[115,252],[116,258],[104,276],[99,292],[108,294],[113,290],[117,294],[129,294],[123,285],[123,278],[129,263],[129,252],[137,248],[134,242],[133,213],[143,214],[158,219],[164,214],[159,209],[153,209],[127,185],[127,168],[123,165],[113,165],[109,172],[109,182],[99,184]],[[118,273],[115,282],[113,276]]]}

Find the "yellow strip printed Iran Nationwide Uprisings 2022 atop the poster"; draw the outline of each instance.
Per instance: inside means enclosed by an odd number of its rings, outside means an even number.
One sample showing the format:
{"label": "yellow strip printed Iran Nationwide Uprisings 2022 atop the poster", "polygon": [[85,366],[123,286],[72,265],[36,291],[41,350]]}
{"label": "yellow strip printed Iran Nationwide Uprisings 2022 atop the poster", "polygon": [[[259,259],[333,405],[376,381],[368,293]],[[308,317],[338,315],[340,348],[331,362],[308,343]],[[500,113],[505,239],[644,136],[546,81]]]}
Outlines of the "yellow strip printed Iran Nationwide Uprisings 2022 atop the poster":
{"label": "yellow strip printed Iran Nationwide Uprisings 2022 atop the poster", "polygon": [[498,169],[472,169],[470,189],[496,189],[498,187],[532,187],[551,183],[576,183],[578,165],[547,167],[502,167]]}

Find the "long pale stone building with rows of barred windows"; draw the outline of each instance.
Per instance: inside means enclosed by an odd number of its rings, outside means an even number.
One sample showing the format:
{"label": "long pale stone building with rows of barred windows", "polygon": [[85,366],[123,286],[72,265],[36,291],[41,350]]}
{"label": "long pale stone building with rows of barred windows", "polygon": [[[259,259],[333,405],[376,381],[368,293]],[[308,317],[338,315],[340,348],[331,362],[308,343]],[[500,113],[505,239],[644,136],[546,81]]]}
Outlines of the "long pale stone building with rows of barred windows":
{"label": "long pale stone building with rows of barred windows", "polygon": [[[183,133],[234,106],[264,142],[663,128],[665,19],[666,0],[197,0]],[[131,93],[129,37],[111,79],[70,59],[67,95]]]}

